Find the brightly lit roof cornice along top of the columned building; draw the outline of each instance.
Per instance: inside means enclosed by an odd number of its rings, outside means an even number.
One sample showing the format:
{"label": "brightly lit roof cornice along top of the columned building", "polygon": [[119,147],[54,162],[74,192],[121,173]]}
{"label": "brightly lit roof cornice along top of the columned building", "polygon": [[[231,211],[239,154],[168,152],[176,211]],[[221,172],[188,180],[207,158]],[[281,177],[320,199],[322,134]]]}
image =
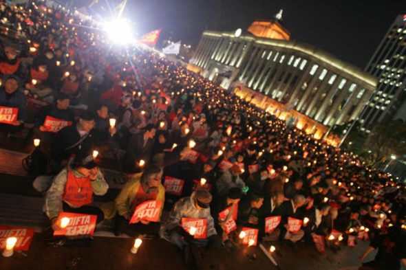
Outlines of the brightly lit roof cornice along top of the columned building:
{"label": "brightly lit roof cornice along top of the columned building", "polygon": [[[217,37],[226,36],[226,37],[235,38],[233,32],[217,32],[217,31],[212,31],[212,30],[205,30],[203,32],[203,35],[217,36]],[[332,54],[329,54],[328,52],[324,52],[323,50],[318,49],[314,45],[310,45],[307,43],[301,43],[298,41],[282,41],[282,40],[278,40],[278,39],[259,38],[259,37],[247,35],[247,34],[242,34],[238,38],[242,38],[246,41],[253,41],[254,43],[257,43],[257,44],[271,45],[271,46],[281,47],[281,48],[285,48],[285,49],[292,49],[297,52],[307,54],[308,56],[317,58],[317,59],[323,61],[324,63],[327,63],[328,65],[331,65],[332,67],[335,67],[336,69],[340,69],[343,72],[349,74],[350,76],[354,76],[355,78],[362,80],[363,82],[366,82],[368,85],[370,85],[373,88],[376,88],[376,85],[378,84],[378,79],[375,78],[374,76],[372,76],[371,74],[368,74],[367,72],[363,71],[359,67],[356,67],[350,63],[340,60],[339,58],[336,58],[336,56],[333,56]]]}

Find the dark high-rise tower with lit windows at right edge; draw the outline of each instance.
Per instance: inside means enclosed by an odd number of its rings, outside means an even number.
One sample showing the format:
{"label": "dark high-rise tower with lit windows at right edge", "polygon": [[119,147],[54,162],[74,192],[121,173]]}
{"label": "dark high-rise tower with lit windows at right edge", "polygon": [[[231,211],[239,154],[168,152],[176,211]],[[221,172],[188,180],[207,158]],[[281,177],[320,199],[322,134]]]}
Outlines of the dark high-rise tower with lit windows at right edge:
{"label": "dark high-rise tower with lit windows at right edge", "polygon": [[365,71],[378,86],[360,115],[367,132],[376,122],[406,120],[406,14],[396,17],[372,55]]}

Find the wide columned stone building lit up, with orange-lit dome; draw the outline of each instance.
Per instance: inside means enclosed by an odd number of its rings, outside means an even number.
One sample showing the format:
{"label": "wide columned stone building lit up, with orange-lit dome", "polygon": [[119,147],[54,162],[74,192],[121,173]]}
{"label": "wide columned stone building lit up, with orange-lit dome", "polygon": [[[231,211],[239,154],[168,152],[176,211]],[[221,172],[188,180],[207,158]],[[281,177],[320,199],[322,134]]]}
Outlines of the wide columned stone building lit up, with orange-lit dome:
{"label": "wide columned stone building lit up, with orange-lit dome", "polygon": [[[268,22],[273,29],[275,25],[280,23]],[[189,69],[226,89],[246,80],[249,89],[326,126],[359,116],[376,88],[374,76],[317,47],[289,41],[287,30],[287,38],[261,37],[265,28],[265,21],[248,28],[259,36],[242,30],[204,31]]]}

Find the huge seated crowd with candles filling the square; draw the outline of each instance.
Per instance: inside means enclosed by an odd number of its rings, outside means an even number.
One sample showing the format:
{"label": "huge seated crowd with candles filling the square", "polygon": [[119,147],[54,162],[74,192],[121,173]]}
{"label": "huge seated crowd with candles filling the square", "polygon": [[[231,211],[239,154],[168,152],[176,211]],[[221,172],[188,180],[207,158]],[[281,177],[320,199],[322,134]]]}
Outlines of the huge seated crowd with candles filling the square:
{"label": "huge seated crowd with candles filling the square", "polygon": [[[396,179],[155,52],[114,47],[62,7],[1,2],[0,10],[0,106],[18,109],[0,123],[2,140],[24,128],[41,139],[52,177],[33,185],[52,229],[61,229],[61,212],[94,214],[116,234],[159,236],[185,254],[237,247],[243,228],[257,229],[257,243],[294,249],[314,236],[331,249],[371,238],[360,259],[378,255],[367,267],[405,264],[405,186]],[[43,105],[32,117],[35,101]],[[98,168],[107,155],[127,179],[115,201],[96,207],[93,196],[109,189]],[[182,183],[176,192],[168,179]],[[151,200],[162,202],[158,221],[129,225]],[[204,219],[206,236],[195,238],[183,218]]]}

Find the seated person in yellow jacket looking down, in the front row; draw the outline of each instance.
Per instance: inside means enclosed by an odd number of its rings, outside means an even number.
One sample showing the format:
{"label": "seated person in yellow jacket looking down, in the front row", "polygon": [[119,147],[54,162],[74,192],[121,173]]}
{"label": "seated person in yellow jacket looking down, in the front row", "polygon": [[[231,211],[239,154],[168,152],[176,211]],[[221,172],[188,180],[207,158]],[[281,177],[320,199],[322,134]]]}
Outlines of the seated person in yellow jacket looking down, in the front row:
{"label": "seated person in yellow jacket looking down, in the front row", "polygon": [[[162,201],[159,217],[162,214],[165,201],[165,189],[161,183],[162,168],[151,165],[145,168],[128,181],[116,198],[116,224],[114,233],[126,233],[129,236],[138,234],[156,234],[159,230],[159,223],[138,219],[136,223],[128,224],[133,216],[136,207],[145,201]],[[159,218],[160,220],[160,218]]]}

